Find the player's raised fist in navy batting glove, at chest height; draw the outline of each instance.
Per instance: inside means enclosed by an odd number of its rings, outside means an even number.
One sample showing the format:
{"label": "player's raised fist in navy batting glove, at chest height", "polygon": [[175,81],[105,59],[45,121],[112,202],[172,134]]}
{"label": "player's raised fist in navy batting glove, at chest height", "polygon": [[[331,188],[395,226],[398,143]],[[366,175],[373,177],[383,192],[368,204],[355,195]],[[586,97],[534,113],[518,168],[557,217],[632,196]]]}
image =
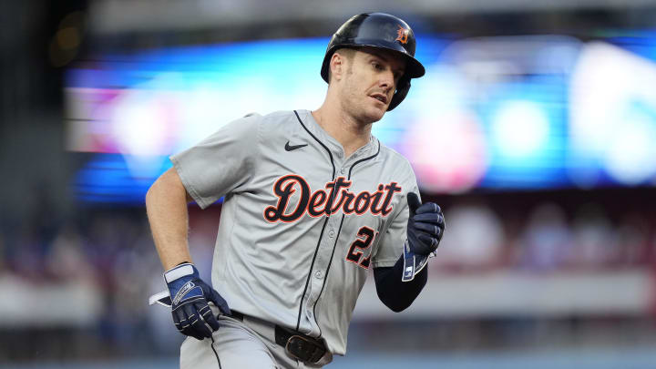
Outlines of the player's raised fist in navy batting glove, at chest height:
{"label": "player's raised fist in navy batting glove, at chest height", "polygon": [[428,255],[436,251],[444,234],[444,214],[435,202],[422,205],[415,192],[407,194],[410,218],[407,225],[407,240],[410,251],[415,255]]}

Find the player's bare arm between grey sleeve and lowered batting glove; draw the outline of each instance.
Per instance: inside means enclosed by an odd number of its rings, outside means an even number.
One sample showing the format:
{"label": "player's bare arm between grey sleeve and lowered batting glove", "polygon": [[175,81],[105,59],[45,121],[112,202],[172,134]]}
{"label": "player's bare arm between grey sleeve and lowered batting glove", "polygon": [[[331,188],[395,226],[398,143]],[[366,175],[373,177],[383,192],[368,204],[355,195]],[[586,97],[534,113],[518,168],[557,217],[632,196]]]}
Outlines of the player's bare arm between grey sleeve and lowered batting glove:
{"label": "player's bare arm between grey sleeve and lowered batting glove", "polygon": [[159,177],[146,194],[150,231],[165,271],[191,261],[187,199],[187,191],[174,169]]}

